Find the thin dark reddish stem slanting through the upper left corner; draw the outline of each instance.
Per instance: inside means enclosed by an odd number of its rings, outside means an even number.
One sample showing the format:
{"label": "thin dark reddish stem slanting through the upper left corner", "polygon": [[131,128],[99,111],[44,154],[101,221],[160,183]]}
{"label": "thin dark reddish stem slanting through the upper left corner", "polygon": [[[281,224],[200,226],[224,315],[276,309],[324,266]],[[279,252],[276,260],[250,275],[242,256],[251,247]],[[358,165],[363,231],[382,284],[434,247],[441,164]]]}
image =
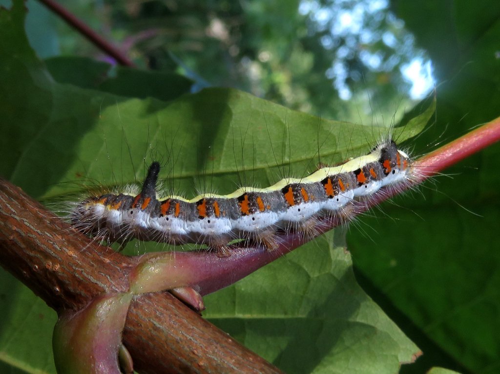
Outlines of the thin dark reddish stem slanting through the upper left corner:
{"label": "thin dark reddish stem slanting through the upper left corner", "polygon": [[116,47],[114,47],[111,43],[102,38],[95,31],[90,29],[85,23],[76,18],[73,14],[71,14],[67,9],[63,8],[60,4],[53,0],[38,0],[40,3],[45,5],[52,12],[59,15],[59,17],[64,20],[69,26],[78,31],[81,35],[83,35],[86,39],[88,39],[95,47],[100,49],[106,55],[112,57],[116,62],[123,66],[133,67],[134,64],[121,53]]}

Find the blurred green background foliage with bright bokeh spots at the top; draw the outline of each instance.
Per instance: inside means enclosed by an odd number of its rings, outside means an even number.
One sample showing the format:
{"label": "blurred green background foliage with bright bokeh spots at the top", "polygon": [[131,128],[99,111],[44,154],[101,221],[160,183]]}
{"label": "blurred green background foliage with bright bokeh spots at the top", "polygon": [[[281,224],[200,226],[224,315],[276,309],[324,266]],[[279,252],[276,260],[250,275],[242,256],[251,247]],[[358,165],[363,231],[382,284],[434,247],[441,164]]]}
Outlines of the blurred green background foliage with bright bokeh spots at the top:
{"label": "blurred green background foliage with bright bokeh spots at the top", "polygon": [[[70,0],[64,6],[139,67],[176,69],[195,81],[194,89],[238,88],[327,118],[359,119],[359,108],[363,119],[372,109],[390,118],[394,108],[410,106],[401,69],[425,60],[380,0]],[[107,60],[60,21],[52,23],[61,54]],[[52,43],[47,35],[34,48],[48,57]]]}

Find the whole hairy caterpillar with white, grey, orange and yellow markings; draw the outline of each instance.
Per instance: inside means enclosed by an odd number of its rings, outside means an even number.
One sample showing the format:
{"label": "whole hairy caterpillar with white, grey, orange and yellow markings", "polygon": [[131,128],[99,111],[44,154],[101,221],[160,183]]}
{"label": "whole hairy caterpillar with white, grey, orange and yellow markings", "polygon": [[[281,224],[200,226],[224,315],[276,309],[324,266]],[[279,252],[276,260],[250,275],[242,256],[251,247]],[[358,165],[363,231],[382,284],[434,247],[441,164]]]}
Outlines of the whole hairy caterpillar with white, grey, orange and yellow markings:
{"label": "whole hairy caterpillar with white, grey, orange and yellow markings", "polygon": [[244,239],[275,245],[276,232],[304,230],[321,215],[342,214],[356,198],[410,178],[411,162],[391,140],[365,156],[323,167],[305,178],[286,178],[259,189],[242,187],[228,195],[201,194],[158,199],[159,163],[153,162],[140,193],[88,197],[70,213],[81,232],[108,242],[131,239],[170,244],[206,244],[229,255],[227,244]]}

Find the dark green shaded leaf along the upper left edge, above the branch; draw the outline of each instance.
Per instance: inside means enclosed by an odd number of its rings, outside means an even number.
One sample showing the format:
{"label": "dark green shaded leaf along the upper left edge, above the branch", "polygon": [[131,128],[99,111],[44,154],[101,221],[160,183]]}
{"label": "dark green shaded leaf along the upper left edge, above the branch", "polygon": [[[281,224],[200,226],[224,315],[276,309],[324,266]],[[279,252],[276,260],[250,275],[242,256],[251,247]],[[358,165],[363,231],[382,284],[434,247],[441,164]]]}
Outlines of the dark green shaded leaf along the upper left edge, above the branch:
{"label": "dark green shaded leaf along the upper left edge, above the branch", "polygon": [[[0,8],[0,25],[0,175],[6,177],[14,172],[22,150],[35,141],[38,124],[48,121],[52,80],[27,43],[23,7]],[[29,110],[21,109],[24,103],[32,103]]]}

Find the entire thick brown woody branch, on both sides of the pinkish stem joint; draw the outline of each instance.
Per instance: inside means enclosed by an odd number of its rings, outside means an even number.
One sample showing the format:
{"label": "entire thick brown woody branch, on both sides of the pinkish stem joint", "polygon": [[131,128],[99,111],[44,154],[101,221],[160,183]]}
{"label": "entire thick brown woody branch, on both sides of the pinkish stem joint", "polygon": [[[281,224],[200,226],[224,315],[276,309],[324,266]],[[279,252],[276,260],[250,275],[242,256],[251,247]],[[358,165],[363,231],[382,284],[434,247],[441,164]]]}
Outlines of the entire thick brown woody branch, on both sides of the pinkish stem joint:
{"label": "entire thick brown woody branch, on both sides of the pinkish stem joint", "polygon": [[[138,257],[75,232],[20,188],[0,179],[0,264],[58,313],[125,292]],[[166,292],[135,296],[123,343],[146,373],[278,373],[276,367]]]}

